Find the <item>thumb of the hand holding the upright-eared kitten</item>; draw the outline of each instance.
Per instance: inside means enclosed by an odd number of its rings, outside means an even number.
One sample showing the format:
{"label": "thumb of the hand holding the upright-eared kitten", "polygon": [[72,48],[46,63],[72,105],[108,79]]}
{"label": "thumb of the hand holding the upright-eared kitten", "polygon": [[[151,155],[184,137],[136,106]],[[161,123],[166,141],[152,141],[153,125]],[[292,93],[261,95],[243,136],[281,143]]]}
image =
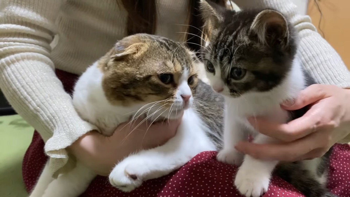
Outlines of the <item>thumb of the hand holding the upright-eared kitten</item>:
{"label": "thumb of the hand holding the upright-eared kitten", "polygon": [[283,102],[281,107],[285,110],[297,110],[327,97],[324,86],[314,84],[301,90],[295,100],[287,100]]}

